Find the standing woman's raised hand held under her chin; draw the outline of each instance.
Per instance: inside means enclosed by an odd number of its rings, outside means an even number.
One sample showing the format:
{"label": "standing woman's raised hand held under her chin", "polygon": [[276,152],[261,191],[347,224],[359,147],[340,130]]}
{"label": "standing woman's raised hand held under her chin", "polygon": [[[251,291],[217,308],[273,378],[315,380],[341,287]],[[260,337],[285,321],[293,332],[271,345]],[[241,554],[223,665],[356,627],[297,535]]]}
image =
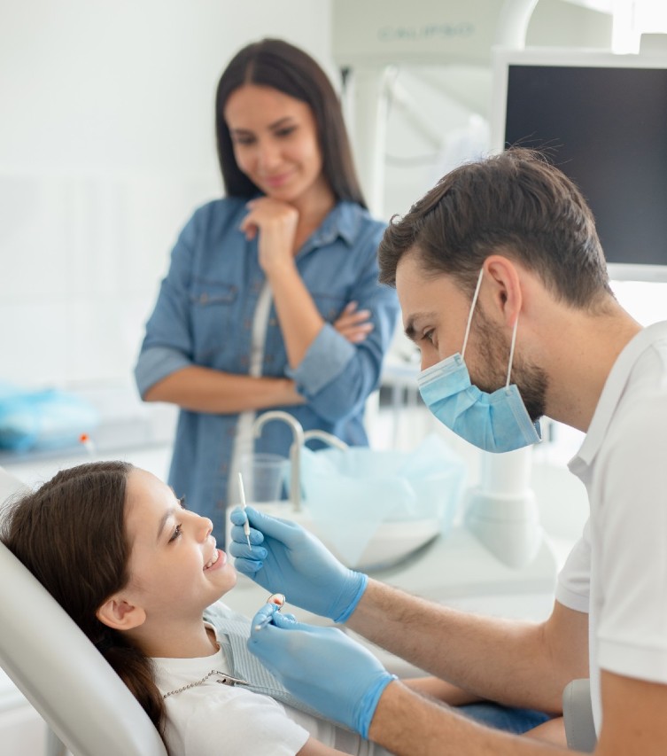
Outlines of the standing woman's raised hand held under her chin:
{"label": "standing woman's raised hand held under her chin", "polygon": [[252,199],[247,203],[248,214],[240,230],[245,238],[253,239],[258,233],[260,267],[268,275],[276,269],[294,265],[294,239],[299,223],[296,207],[270,197]]}

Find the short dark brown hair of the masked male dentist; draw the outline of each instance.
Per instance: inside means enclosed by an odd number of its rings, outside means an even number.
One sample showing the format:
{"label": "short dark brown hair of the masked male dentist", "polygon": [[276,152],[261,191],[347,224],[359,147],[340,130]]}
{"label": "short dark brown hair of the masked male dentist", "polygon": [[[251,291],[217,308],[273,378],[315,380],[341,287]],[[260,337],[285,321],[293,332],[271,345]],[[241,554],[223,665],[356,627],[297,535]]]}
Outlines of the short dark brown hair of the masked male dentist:
{"label": "short dark brown hair of the masked male dentist", "polygon": [[409,213],[394,215],[378,249],[382,283],[396,284],[406,253],[426,275],[449,274],[470,294],[486,257],[498,253],[573,307],[594,312],[613,297],[586,200],[544,155],[523,148],[455,168]]}

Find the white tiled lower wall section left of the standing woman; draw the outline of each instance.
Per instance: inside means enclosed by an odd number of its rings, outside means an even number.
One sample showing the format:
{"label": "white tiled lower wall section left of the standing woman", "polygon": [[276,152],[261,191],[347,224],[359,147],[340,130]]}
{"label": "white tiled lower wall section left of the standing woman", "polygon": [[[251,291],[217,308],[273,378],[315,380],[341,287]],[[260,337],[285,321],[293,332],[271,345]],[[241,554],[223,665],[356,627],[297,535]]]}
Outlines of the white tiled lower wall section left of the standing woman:
{"label": "white tiled lower wall section left of the standing woman", "polygon": [[2,176],[0,378],[126,379],[176,234],[218,192],[206,179]]}

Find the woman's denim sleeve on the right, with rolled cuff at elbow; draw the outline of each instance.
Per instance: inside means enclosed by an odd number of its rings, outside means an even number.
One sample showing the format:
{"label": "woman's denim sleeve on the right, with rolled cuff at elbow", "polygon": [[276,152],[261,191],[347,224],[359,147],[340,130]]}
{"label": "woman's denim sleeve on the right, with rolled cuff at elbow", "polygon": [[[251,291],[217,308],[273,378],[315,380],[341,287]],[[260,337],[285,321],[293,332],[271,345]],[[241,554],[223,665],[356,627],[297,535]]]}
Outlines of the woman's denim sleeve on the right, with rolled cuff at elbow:
{"label": "woman's denim sleeve on the right, with rolled cuff at elbow", "polygon": [[381,233],[376,230],[354,251],[360,271],[350,296],[360,309],[370,310],[373,331],[361,344],[352,344],[325,323],[299,366],[286,370],[314,411],[331,422],[359,412],[379,386],[384,355],[398,322],[396,292],[377,280],[376,249]]}

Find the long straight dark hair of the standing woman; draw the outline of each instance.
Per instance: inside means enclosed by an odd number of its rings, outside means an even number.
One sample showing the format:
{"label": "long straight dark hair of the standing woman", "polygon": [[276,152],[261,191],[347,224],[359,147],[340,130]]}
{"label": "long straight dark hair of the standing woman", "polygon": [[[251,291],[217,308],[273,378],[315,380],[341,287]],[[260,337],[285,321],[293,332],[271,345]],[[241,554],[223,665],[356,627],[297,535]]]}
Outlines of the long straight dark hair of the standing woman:
{"label": "long straight dark hair of the standing woman", "polygon": [[322,152],[322,173],[337,200],[366,203],[354,170],[340,102],[327,74],[306,52],[279,39],[264,39],[238,51],[218,83],[215,136],[225,191],[250,198],[260,190],[237,165],[224,110],[229,96],[244,84],[259,84],[306,103],[313,111]]}

